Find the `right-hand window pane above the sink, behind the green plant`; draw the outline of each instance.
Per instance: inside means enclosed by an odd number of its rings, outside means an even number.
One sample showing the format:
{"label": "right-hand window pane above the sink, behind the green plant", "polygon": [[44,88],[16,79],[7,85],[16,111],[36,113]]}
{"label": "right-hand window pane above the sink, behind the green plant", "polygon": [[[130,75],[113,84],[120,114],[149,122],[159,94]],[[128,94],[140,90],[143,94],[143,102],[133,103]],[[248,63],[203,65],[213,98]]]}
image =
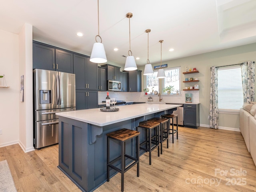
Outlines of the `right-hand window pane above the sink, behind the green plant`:
{"label": "right-hand window pane above the sink, behind the green plant", "polygon": [[[163,79],[163,88],[166,86],[174,86],[174,92],[180,90],[180,67],[168,68],[164,70],[166,78]],[[165,93],[166,94],[166,93]]]}

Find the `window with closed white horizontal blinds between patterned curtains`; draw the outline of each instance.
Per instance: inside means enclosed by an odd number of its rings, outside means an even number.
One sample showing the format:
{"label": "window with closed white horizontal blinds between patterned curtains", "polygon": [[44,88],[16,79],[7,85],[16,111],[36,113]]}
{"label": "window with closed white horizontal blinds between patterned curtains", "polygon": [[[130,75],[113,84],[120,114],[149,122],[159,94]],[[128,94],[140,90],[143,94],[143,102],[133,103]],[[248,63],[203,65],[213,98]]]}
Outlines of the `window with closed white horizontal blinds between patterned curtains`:
{"label": "window with closed white horizontal blinds between patterned curtains", "polygon": [[244,104],[241,68],[218,69],[218,109],[239,110]]}

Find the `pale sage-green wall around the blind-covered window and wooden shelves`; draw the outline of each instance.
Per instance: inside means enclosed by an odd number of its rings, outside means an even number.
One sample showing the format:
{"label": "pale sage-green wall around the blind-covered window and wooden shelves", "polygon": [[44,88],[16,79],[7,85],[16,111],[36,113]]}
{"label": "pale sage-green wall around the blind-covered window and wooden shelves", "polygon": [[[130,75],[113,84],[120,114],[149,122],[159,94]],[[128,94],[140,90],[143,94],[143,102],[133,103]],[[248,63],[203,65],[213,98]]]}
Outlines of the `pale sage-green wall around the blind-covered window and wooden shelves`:
{"label": "pale sage-green wall around the blind-covered window and wooden shelves", "polygon": [[[208,126],[209,120],[209,102],[210,102],[210,67],[211,66],[224,66],[231,64],[239,64],[245,61],[256,61],[256,43],[234,48],[189,56],[180,59],[169,61],[162,61],[162,64],[168,64],[168,67],[181,66],[181,71],[186,72],[186,67],[196,68],[199,73],[184,75],[181,74],[181,88],[185,86],[193,86],[193,83],[183,83],[185,78],[198,77],[199,85],[199,102],[200,102],[200,125]],[[157,66],[160,63],[152,64]],[[144,70],[143,67],[139,67]],[[143,74],[143,71],[142,71]],[[192,85],[191,85],[192,84]],[[142,88],[144,88],[144,77],[142,75]],[[230,98],[232,99],[232,98]],[[256,98],[255,98],[256,100]],[[219,126],[226,129],[239,129],[239,114],[219,114]]]}

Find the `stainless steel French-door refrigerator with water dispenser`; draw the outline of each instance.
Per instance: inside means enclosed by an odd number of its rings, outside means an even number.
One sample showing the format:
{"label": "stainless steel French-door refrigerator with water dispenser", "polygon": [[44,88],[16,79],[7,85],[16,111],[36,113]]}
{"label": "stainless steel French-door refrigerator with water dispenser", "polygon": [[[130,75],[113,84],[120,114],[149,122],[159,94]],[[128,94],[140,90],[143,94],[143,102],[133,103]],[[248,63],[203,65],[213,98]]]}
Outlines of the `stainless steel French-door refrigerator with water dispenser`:
{"label": "stainless steel French-door refrigerator with water dispenser", "polygon": [[58,143],[56,112],[76,110],[75,74],[33,70],[34,148]]}

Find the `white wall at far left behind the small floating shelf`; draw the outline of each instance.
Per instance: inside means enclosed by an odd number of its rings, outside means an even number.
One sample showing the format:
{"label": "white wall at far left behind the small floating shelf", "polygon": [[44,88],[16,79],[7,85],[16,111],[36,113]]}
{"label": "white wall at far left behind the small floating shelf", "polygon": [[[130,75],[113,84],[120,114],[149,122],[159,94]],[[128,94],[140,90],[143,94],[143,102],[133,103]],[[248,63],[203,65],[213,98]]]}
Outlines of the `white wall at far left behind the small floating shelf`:
{"label": "white wall at far left behind the small floating shelf", "polygon": [[[0,88],[0,147],[19,140],[19,37],[0,30],[0,75],[10,88]],[[3,85],[3,78],[0,79]]]}

